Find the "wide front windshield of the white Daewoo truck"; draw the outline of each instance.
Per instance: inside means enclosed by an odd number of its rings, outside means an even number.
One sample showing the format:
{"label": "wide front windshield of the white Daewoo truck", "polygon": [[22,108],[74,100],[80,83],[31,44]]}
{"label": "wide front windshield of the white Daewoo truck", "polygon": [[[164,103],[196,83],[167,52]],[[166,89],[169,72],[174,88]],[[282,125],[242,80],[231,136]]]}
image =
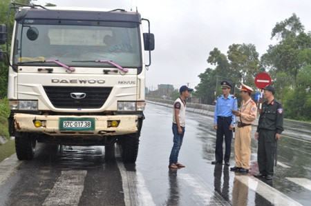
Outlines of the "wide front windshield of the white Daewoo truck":
{"label": "wide front windshield of the white Daewoo truck", "polygon": [[23,19],[17,25],[13,61],[38,65],[56,59],[70,66],[111,67],[87,61],[106,59],[124,68],[139,68],[139,32],[138,23],[131,22]]}

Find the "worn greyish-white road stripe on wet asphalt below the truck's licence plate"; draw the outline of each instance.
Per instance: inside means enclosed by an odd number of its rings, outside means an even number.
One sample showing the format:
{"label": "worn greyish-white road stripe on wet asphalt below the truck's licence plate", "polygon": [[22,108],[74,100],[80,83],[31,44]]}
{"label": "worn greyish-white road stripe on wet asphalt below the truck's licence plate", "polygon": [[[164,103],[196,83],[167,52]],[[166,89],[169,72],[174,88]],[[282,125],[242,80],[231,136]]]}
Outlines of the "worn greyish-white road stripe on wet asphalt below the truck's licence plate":
{"label": "worn greyish-white road stripe on wet asphalt below the truck's licence plate", "polygon": [[86,170],[62,171],[42,205],[78,205],[86,173]]}

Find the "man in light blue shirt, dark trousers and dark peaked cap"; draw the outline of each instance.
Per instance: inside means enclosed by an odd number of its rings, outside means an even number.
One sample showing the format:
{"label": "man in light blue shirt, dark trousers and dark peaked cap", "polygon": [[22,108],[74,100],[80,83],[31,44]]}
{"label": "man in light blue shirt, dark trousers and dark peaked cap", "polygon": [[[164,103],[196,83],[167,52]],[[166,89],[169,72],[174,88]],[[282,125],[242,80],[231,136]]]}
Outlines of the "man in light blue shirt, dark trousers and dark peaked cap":
{"label": "man in light blue shirt, dark trousers and dark peaked cap", "polygon": [[227,81],[221,82],[223,95],[219,96],[216,101],[214,112],[214,128],[216,130],[216,150],[215,161],[211,164],[223,163],[223,136],[225,135],[225,165],[229,166],[229,158],[231,154],[232,130],[234,129],[235,116],[232,110],[238,109],[238,101],[236,97],[230,95],[232,85]]}

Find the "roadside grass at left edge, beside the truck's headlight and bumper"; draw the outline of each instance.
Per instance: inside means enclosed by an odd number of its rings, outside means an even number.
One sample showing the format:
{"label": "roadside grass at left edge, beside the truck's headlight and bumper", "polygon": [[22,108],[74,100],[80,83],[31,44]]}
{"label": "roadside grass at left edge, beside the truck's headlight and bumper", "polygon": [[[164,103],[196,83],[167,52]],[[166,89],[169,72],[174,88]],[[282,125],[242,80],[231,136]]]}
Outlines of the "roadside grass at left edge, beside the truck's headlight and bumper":
{"label": "roadside grass at left edge, beside the truck's headlight and bumper", "polygon": [[10,138],[8,133],[8,116],[10,115],[10,108],[8,106],[8,99],[0,99],[0,136]]}

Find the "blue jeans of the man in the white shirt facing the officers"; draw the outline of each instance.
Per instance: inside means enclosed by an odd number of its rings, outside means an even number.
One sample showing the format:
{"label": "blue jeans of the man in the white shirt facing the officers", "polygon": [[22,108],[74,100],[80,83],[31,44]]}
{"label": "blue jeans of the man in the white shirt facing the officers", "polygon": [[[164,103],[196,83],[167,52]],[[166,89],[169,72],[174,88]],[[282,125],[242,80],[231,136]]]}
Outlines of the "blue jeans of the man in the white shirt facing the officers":
{"label": "blue jeans of the man in the white shirt facing the officers", "polygon": [[169,165],[178,163],[178,154],[182,145],[182,139],[185,134],[185,127],[182,128],[182,134],[178,134],[178,126],[173,123],[171,129],[173,130],[173,147],[171,148],[171,155],[169,156]]}

